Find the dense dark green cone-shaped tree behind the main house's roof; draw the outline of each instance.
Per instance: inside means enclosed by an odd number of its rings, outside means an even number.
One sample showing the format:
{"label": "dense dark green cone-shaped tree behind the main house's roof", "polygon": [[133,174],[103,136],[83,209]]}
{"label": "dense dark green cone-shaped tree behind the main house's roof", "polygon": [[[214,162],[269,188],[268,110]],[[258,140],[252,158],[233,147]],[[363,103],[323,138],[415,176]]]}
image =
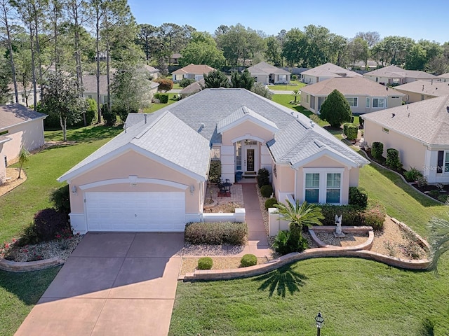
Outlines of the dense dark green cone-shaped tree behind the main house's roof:
{"label": "dense dark green cone-shaped tree behind the main house's roof", "polygon": [[351,122],[351,107],[340,91],[330,92],[321,105],[320,118],[326,120],[332,127],[340,127],[342,123]]}

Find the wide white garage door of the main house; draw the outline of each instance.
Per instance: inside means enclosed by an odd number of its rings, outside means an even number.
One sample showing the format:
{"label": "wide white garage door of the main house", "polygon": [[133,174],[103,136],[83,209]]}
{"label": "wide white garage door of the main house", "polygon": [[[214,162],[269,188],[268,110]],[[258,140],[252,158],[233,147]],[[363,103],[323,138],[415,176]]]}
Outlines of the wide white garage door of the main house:
{"label": "wide white garage door of the main house", "polygon": [[86,193],[88,231],[180,232],[185,193]]}

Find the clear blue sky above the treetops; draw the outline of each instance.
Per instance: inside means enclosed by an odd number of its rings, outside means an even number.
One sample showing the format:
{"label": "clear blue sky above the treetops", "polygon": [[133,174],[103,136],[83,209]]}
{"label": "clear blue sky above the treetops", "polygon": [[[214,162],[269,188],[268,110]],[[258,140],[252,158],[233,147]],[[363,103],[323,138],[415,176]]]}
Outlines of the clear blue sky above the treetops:
{"label": "clear blue sky above the treetops", "polygon": [[281,29],[321,25],[331,33],[354,37],[358,31],[380,36],[449,41],[449,1],[417,0],[128,0],[138,23],[191,25],[213,33],[220,25],[241,23],[276,35]]}

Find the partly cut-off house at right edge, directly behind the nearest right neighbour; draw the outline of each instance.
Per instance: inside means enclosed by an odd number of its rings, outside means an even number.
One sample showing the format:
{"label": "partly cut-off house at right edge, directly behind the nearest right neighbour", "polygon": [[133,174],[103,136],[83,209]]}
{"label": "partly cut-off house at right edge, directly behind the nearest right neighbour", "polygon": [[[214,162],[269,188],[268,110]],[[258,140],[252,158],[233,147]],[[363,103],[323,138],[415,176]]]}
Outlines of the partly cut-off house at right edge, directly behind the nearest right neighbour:
{"label": "partly cut-off house at right edge, directly behind the nearest right neighbour", "polygon": [[405,102],[415,103],[425,99],[432,99],[449,94],[449,83],[436,80],[415,80],[407,84],[394,87],[399,92],[406,94]]}

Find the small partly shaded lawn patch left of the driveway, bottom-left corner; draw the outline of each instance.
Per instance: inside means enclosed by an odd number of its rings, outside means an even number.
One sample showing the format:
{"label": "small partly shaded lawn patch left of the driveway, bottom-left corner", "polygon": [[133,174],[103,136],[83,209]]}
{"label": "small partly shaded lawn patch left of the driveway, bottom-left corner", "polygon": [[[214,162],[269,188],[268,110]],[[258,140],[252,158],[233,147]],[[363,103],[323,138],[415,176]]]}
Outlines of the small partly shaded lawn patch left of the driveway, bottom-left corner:
{"label": "small partly shaded lawn patch left of the driveway, bottom-left corner", "polygon": [[61,267],[36,272],[0,271],[0,335],[13,335]]}

